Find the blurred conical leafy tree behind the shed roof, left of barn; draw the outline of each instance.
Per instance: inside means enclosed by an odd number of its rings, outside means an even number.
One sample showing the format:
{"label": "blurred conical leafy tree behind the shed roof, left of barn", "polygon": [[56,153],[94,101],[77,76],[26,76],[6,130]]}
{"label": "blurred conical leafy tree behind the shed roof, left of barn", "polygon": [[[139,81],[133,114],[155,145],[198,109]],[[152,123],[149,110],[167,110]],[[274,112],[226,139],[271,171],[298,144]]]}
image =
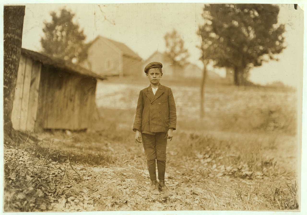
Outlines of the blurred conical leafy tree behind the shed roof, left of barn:
{"label": "blurred conical leafy tree behind the shed roof, left of barn", "polygon": [[87,46],[84,43],[86,36],[79,25],[73,23],[75,16],[71,11],[61,9],[58,16],[55,12],[50,13],[51,22],[44,22],[41,38],[43,51],[65,60],[78,63],[87,57]]}

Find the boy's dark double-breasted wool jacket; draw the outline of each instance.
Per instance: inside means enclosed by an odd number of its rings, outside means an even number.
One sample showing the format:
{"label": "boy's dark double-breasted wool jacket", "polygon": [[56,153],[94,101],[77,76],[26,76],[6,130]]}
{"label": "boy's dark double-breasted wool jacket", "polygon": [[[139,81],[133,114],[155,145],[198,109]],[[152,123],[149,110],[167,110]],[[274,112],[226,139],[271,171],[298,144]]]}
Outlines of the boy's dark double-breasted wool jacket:
{"label": "boy's dark double-breasted wool jacket", "polygon": [[150,85],[140,91],[133,124],[134,131],[137,129],[146,134],[166,133],[169,128],[176,130],[176,121],[176,104],[169,87],[159,84],[155,95]]}

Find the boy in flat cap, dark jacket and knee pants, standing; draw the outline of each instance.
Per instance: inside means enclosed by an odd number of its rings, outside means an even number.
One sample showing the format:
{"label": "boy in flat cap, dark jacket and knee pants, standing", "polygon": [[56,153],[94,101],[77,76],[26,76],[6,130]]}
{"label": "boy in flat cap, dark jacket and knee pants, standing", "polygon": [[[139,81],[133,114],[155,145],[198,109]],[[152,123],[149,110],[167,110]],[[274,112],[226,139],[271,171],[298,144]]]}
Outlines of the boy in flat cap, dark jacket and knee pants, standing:
{"label": "boy in flat cap, dark jacket and knee pants, standing", "polygon": [[[149,63],[144,72],[150,81],[149,87],[142,89],[134,119],[135,143],[142,143],[150,175],[150,190],[159,194],[159,190],[169,194],[165,186],[165,163],[167,139],[173,138],[176,130],[176,105],[173,92],[169,87],[160,84],[163,75],[160,62]],[[156,160],[158,179],[156,178]]]}

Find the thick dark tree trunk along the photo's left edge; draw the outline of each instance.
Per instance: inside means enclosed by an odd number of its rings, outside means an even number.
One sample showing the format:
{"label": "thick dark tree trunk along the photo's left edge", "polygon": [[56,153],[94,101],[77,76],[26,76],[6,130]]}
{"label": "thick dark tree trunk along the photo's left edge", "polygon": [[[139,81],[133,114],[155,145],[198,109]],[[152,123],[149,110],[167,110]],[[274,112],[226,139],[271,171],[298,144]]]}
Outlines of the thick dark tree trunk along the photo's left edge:
{"label": "thick dark tree trunk along the photo's left edge", "polygon": [[4,141],[14,139],[11,121],[19,59],[25,6],[4,6],[3,16],[3,128]]}

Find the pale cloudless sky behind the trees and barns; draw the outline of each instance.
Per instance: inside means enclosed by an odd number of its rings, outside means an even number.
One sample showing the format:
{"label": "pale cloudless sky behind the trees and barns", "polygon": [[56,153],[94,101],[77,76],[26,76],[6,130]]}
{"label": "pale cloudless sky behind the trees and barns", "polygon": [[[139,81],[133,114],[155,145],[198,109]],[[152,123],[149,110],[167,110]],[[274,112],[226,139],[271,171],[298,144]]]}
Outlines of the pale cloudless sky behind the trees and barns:
{"label": "pale cloudless sky behind the trees and barns", "polygon": [[[74,21],[84,30],[86,42],[98,35],[105,36],[125,43],[143,60],[155,51],[164,52],[164,35],[176,29],[191,55],[189,61],[202,68],[198,60],[200,50],[196,47],[200,38],[196,32],[202,21],[203,6],[204,3],[27,4],[22,47],[41,51],[43,21],[51,21],[50,12],[66,7],[76,14]],[[296,86],[302,78],[303,12],[295,10],[293,4],[280,5],[278,21],[286,24],[287,48],[278,55],[278,62],[252,69],[250,80],[261,84],[282,81]],[[224,75],[224,70],[216,72]]]}

